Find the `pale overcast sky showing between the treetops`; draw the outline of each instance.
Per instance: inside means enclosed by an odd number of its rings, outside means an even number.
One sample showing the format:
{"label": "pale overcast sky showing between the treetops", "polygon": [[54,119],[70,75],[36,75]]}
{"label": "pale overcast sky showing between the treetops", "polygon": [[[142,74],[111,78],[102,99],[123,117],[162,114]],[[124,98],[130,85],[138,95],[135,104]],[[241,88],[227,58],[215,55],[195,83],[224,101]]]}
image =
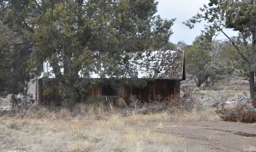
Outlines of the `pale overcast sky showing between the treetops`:
{"label": "pale overcast sky showing between the treetops", "polygon": [[[170,36],[170,41],[177,44],[180,40],[184,40],[187,44],[191,45],[197,35],[200,35],[201,29],[204,29],[206,21],[195,24],[194,29],[188,28],[182,22],[188,20],[197,12],[200,12],[199,7],[203,4],[208,4],[209,0],[158,0],[157,14],[160,14],[161,18],[172,19],[177,18],[174,25],[171,27],[174,32]],[[227,35],[237,35],[237,32],[232,30],[226,31]],[[223,35],[223,34],[221,34]],[[225,36],[219,36],[218,39],[226,38]]]}

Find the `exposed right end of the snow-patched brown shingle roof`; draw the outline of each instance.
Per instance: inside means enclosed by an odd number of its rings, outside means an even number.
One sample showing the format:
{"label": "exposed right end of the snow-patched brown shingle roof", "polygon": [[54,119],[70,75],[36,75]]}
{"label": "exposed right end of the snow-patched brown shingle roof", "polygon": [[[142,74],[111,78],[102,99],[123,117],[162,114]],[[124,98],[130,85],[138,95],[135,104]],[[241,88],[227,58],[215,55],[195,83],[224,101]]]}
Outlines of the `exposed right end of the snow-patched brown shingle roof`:
{"label": "exposed right end of the snow-patched brown shingle roof", "polygon": [[159,68],[156,80],[185,80],[184,50],[148,50],[151,65]]}

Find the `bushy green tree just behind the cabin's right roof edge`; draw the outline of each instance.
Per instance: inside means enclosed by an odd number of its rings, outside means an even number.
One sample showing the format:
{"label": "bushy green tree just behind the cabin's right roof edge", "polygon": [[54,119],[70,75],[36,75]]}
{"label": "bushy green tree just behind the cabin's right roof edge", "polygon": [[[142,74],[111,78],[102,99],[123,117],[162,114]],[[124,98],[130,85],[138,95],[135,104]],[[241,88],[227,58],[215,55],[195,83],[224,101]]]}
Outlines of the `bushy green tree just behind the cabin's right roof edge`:
{"label": "bushy green tree just behind the cabin's right roof edge", "polygon": [[197,37],[193,45],[185,51],[185,64],[186,73],[190,75],[190,79],[195,80],[196,86],[199,87],[205,83],[205,88],[207,88],[211,82],[225,79],[226,71],[212,66],[214,59],[208,54],[208,51],[213,48],[211,46],[206,47],[206,40],[200,40],[202,37],[203,35]]}

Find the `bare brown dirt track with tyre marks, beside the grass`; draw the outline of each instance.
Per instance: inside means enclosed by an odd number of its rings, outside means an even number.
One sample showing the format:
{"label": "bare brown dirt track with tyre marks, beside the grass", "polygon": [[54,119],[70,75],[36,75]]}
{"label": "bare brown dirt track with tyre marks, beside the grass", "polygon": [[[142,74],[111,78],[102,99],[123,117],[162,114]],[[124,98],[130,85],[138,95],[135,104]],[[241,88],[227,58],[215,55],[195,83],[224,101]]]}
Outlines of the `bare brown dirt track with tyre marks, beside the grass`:
{"label": "bare brown dirt track with tyre marks, beside the grass", "polygon": [[[243,151],[256,146],[256,125],[237,122],[177,122],[170,119],[161,129],[155,129],[155,123],[140,126],[152,131],[185,138],[183,145],[192,151]],[[168,142],[168,141],[167,141]]]}

